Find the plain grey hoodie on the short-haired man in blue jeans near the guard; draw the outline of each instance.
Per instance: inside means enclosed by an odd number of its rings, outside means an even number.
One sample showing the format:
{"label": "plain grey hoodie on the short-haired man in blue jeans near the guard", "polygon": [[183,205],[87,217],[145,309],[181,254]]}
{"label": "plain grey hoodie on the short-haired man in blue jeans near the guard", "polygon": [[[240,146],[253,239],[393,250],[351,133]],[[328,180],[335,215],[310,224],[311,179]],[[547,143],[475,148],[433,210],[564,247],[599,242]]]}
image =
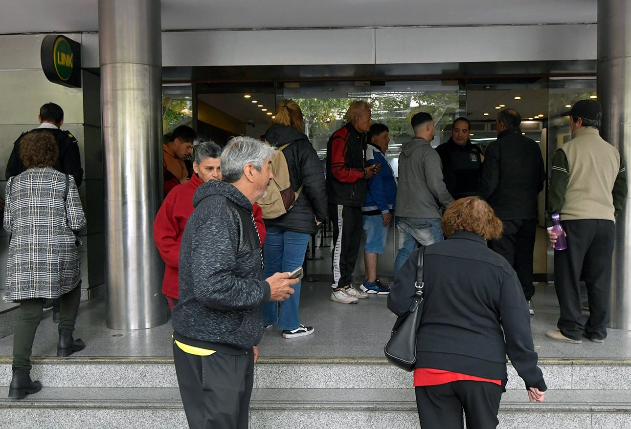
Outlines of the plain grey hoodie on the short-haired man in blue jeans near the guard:
{"label": "plain grey hoodie on the short-haired man in blue jeans near the guard", "polygon": [[399,155],[396,215],[440,218],[441,209],[453,201],[442,180],[438,152],[422,137],[412,137]]}

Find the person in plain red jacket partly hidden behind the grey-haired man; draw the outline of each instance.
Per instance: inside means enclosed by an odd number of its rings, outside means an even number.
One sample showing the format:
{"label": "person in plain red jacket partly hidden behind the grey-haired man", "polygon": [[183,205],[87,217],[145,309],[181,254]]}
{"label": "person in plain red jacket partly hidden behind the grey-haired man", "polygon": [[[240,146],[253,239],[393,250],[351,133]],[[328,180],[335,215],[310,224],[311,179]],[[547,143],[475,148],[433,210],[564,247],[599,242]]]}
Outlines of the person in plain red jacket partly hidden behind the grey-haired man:
{"label": "person in plain red jacket partly hidden behind the grey-haired man", "polygon": [[[202,183],[209,180],[221,180],[221,151],[221,147],[213,142],[196,142],[193,161],[195,174],[192,175],[190,181],[175,186],[168,193],[153,221],[153,241],[166,264],[162,293],[167,297],[168,306],[171,309],[177,304],[179,296],[177,264],[180,256],[180,242],[186,221],[193,212],[193,194]],[[262,246],[265,239],[265,226],[261,207],[254,204],[253,214]]]}

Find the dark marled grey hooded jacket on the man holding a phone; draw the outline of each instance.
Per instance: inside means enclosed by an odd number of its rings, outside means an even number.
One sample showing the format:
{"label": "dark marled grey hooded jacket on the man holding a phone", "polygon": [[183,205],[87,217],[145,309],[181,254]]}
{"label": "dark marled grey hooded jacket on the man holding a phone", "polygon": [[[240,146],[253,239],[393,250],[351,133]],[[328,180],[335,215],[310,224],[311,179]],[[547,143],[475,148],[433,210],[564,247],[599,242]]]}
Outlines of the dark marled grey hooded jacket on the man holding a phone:
{"label": "dark marled grey hooded jacket on the man holding a phone", "polygon": [[173,328],[193,340],[249,349],[261,341],[261,304],[270,294],[252,203],[230,183],[211,180],[199,185],[193,205],[180,245]]}

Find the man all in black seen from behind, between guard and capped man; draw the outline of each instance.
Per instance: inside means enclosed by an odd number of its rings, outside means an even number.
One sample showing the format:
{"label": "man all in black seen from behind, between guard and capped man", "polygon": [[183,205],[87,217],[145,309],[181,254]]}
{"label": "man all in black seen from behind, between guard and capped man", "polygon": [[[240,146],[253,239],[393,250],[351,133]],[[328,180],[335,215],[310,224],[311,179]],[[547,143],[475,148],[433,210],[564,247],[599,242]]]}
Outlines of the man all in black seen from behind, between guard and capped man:
{"label": "man all in black seen from behind, between guard and capped man", "polygon": [[504,256],[517,272],[534,314],[533,251],[537,229],[537,195],[546,179],[541,149],[522,135],[521,115],[504,109],[497,115],[497,140],[487,147],[480,197],[504,223],[504,234],[488,246]]}

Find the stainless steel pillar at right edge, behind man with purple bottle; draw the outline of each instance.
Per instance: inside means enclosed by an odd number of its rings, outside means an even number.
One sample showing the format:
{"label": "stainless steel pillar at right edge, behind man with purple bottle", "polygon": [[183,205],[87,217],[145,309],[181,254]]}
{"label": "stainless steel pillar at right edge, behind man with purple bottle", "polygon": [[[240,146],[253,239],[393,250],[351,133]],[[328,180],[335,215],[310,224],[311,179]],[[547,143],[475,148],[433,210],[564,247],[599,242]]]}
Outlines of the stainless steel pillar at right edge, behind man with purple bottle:
{"label": "stainless steel pillar at right edge, behind man with purple bottle", "polygon": [[[569,49],[581,49],[571,46]],[[631,178],[631,3],[598,1],[598,99],[603,105],[601,135],[618,148]],[[616,220],[611,278],[611,328],[631,329],[631,207]]]}

